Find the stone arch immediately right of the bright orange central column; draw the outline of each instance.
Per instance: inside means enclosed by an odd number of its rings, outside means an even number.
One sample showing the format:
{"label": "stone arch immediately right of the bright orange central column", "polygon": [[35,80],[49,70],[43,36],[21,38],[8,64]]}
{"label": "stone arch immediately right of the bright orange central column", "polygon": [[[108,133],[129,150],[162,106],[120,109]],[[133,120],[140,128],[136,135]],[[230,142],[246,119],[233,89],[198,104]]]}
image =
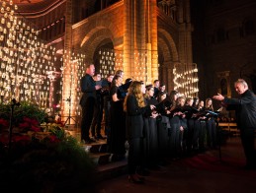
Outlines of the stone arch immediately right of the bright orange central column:
{"label": "stone arch immediately right of the bright orange central column", "polygon": [[175,41],[169,32],[163,29],[158,30],[158,61],[159,63],[159,80],[165,84],[167,91],[174,88],[173,68],[174,63],[179,61],[178,50]]}

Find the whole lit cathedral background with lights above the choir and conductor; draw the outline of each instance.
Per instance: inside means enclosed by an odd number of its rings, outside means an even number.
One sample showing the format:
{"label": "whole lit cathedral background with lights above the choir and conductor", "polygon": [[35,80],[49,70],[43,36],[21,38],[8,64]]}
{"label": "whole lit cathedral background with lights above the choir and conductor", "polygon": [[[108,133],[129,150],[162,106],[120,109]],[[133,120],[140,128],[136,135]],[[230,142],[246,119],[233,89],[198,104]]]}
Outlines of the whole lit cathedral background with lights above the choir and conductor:
{"label": "whole lit cathedral background with lights above the choir and conductor", "polygon": [[1,101],[80,115],[87,63],[202,99],[256,92],[254,0],[0,0]]}

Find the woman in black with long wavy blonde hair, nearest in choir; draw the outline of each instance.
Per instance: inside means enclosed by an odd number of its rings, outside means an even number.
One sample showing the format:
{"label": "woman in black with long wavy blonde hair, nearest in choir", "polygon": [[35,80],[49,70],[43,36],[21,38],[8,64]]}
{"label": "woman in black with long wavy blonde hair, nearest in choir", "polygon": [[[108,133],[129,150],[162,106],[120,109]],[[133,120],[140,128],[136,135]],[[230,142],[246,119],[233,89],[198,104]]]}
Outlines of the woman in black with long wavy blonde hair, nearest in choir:
{"label": "woman in black with long wavy blonde hair, nearest in choir", "polygon": [[154,105],[145,104],[144,91],[145,87],[141,82],[132,82],[124,103],[124,110],[127,112],[128,180],[133,183],[143,183],[142,177],[136,173],[136,168],[144,164],[143,115],[154,108]]}

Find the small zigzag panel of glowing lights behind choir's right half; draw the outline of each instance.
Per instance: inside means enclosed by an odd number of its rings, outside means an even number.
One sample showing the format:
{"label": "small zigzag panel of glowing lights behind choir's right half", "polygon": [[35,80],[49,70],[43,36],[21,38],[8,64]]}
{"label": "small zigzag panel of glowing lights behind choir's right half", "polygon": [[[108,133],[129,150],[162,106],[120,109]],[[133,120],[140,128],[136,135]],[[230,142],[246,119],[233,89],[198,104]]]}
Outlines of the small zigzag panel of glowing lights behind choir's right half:
{"label": "small zigzag panel of glowing lights behind choir's right half", "polygon": [[193,97],[198,96],[198,68],[197,64],[176,63],[173,69],[174,90],[182,95]]}

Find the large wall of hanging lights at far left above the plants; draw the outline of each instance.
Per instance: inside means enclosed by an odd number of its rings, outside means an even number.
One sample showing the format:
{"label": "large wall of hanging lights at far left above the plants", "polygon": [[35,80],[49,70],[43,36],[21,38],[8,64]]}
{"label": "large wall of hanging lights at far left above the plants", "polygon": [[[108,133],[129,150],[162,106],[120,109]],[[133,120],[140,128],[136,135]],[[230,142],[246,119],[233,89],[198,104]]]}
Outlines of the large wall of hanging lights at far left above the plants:
{"label": "large wall of hanging lights at far left above the plants", "polygon": [[39,39],[37,28],[17,10],[12,0],[0,0],[0,100],[29,100],[46,108],[55,47]]}

